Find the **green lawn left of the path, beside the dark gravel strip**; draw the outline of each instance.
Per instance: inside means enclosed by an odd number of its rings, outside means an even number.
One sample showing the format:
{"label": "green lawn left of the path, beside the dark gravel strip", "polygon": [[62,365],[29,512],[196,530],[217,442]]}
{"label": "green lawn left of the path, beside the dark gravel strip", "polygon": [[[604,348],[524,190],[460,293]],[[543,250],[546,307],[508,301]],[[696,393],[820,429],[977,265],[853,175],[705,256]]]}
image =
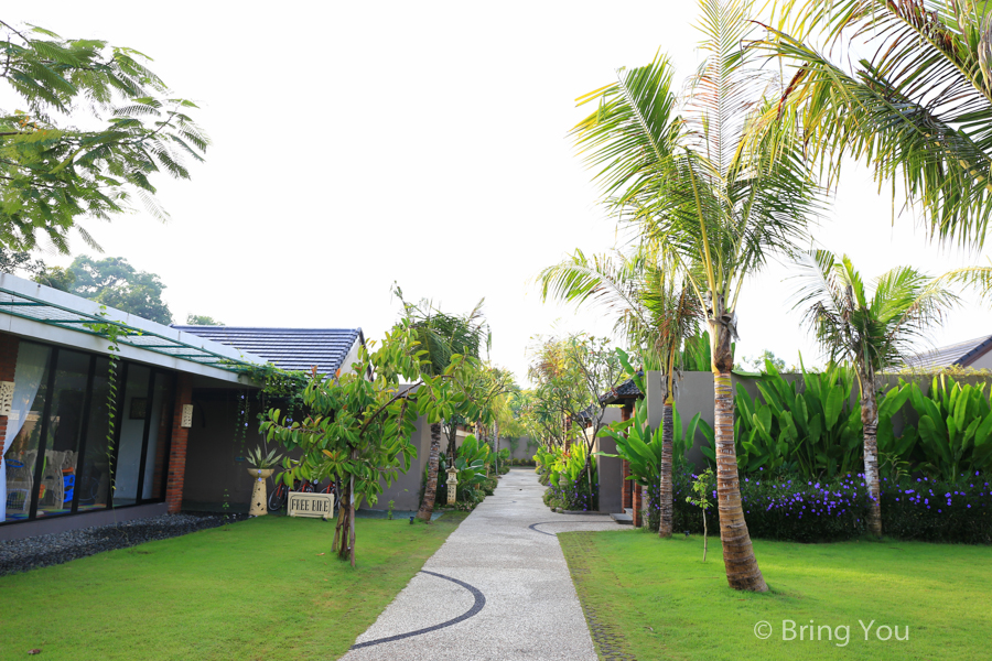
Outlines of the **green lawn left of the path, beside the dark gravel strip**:
{"label": "green lawn left of the path, beside the dark gravel strip", "polygon": [[336,659],[465,516],[357,519],[355,570],[333,523],[270,516],[0,577],[0,658]]}

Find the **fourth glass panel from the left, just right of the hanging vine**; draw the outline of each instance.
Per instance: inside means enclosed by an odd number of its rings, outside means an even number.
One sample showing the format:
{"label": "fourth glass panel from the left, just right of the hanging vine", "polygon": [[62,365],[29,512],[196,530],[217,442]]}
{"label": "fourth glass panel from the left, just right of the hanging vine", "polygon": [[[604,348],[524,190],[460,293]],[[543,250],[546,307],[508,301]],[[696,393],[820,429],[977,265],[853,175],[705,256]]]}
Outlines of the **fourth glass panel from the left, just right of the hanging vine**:
{"label": "fourth glass panel from the left, just right of the hanging vine", "polygon": [[138,501],[138,474],[141,464],[141,445],[144,438],[144,419],[149,414],[148,381],[151,370],[140,365],[128,366],[123,407],[117,416],[120,437],[117,448],[117,466],[114,470],[114,506],[134,505]]}

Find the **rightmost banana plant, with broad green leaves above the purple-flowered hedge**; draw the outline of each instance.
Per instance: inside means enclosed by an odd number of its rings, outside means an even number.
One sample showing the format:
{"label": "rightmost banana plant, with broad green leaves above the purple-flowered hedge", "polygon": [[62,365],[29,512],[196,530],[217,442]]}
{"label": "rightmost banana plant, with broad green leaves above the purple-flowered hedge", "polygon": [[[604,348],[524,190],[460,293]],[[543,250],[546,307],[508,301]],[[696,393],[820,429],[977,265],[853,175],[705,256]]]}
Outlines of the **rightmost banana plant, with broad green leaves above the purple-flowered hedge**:
{"label": "rightmost banana plant, with broad green leaves above the purple-flowered hedge", "polygon": [[984,383],[962,387],[940,375],[928,395],[910,383],[908,400],[919,414],[923,470],[948,481],[992,470],[992,407]]}

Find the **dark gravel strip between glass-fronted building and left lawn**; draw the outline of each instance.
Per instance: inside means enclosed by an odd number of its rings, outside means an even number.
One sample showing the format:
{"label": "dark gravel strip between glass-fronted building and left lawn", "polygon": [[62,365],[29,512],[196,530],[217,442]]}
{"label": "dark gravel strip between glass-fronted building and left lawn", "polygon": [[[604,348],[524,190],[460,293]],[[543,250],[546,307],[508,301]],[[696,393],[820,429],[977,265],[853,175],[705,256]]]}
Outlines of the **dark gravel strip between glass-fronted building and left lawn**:
{"label": "dark gravel strip between glass-fronted building and left lawn", "polygon": [[0,542],[0,576],[62,564],[104,551],[168,540],[247,519],[247,514],[160,514]]}

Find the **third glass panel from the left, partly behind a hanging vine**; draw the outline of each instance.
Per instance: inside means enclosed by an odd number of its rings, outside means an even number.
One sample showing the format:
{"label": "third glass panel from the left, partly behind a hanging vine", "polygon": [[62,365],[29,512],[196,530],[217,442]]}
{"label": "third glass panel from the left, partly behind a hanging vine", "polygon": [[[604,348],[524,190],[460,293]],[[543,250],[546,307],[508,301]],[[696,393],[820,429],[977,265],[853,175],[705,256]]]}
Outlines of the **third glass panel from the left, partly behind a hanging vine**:
{"label": "third glass panel from the left, partly behind a hanging vine", "polygon": [[107,453],[107,448],[112,446],[107,438],[110,432],[110,402],[107,399],[110,397],[109,369],[110,360],[98,357],[93,373],[86,449],[76,473],[76,511],[79,512],[107,507],[107,494],[110,491],[110,457]]}

